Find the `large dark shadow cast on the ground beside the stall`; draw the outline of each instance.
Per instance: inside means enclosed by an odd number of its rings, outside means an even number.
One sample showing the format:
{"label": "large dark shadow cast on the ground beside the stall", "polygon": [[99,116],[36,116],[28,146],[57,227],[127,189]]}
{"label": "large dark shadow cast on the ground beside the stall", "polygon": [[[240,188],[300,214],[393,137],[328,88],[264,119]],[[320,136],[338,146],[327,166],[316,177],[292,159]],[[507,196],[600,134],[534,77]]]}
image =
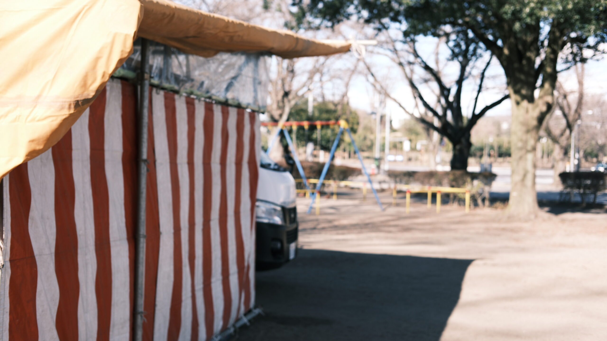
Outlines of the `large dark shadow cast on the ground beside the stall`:
{"label": "large dark shadow cast on the ground beside the stall", "polygon": [[300,249],[257,273],[265,316],[237,340],[438,341],[472,260]]}

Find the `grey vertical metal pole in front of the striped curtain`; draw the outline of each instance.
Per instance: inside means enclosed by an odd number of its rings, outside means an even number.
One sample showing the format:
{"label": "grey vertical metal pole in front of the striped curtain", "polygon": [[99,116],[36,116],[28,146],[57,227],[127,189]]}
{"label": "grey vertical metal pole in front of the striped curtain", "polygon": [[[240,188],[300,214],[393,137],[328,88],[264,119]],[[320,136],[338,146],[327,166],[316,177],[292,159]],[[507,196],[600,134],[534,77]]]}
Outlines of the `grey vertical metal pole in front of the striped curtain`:
{"label": "grey vertical metal pole in front of the striped curtain", "polygon": [[141,66],[139,71],[138,107],[138,196],[137,226],[135,226],[135,297],[133,304],[133,340],[141,341],[143,336],[143,285],[146,256],[146,180],[148,177],[148,112],[149,112],[149,42],[141,39]]}

